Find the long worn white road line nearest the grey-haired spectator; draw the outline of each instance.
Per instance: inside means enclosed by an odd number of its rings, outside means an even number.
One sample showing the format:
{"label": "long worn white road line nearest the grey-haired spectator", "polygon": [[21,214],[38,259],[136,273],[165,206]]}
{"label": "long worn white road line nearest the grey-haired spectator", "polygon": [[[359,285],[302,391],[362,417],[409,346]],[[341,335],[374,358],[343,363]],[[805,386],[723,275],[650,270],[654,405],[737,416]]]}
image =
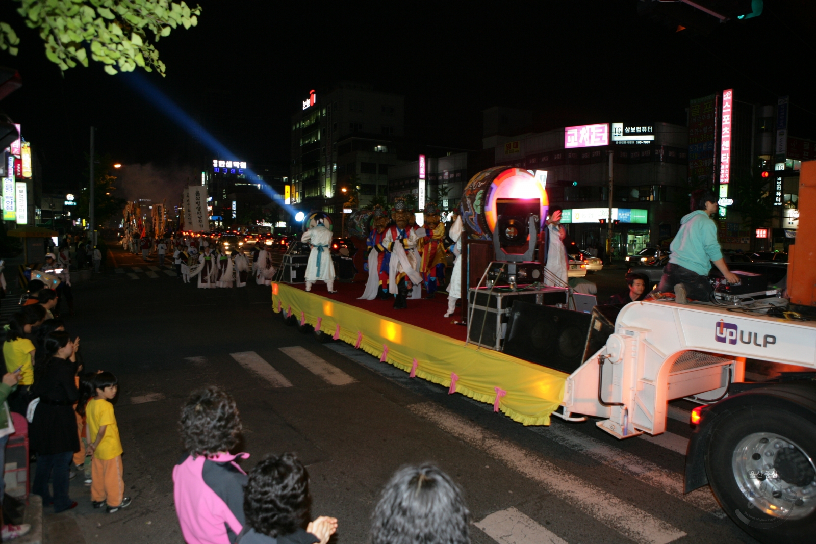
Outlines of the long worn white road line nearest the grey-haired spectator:
{"label": "long worn white road line nearest the grey-haired spectator", "polygon": [[591,515],[634,542],[667,544],[685,537],[680,529],[650,513],[588,484],[529,449],[477,427],[472,422],[432,402],[407,406],[410,411],[437,425],[442,431],[504,462],[514,471],[538,482],[550,493]]}

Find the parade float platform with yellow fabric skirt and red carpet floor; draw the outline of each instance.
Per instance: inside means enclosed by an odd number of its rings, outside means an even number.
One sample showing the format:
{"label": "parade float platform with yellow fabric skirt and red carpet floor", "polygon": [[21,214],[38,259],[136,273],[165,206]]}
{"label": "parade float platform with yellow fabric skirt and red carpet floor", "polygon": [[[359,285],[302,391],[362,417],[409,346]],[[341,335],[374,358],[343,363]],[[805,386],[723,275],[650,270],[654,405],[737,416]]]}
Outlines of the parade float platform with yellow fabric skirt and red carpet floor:
{"label": "parade float platform with yellow fabric skirt and red carpet floor", "polygon": [[502,352],[465,344],[467,328],[443,317],[447,296],[409,300],[394,310],[393,300],[357,300],[365,285],[336,282],[335,294],[319,283],[273,283],[275,312],[286,312],[337,340],[352,344],[379,360],[493,405],[524,425],[548,425],[561,405],[567,374]]}

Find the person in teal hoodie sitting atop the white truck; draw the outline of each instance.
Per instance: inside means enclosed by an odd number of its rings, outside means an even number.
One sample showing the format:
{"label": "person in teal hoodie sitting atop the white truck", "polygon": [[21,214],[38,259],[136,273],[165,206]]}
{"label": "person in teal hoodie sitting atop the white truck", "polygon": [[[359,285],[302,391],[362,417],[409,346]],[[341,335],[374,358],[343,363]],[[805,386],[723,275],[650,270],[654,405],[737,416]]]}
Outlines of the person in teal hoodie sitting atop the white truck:
{"label": "person in teal hoodie sitting atop the white truck", "polygon": [[681,304],[688,299],[708,302],[712,298],[712,286],[708,283],[708,271],[712,263],[729,283],[739,283],[739,278],[729,272],[722,258],[720,243],[716,241],[716,223],[710,217],[717,210],[716,197],[711,189],[697,189],[691,193],[691,213],[680,220],[680,230],[672,240],[668,258],[658,290],[674,291]]}

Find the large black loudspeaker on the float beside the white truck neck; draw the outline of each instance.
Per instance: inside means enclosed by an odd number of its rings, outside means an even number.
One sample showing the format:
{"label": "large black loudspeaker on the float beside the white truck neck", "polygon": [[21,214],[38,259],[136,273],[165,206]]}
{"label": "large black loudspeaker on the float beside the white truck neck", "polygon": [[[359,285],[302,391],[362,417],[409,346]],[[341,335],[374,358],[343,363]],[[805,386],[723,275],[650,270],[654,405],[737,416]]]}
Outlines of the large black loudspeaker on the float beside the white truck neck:
{"label": "large black loudspeaker on the float beside the white truck neck", "polygon": [[619,308],[597,308],[588,314],[513,302],[503,352],[572,374],[614,332],[614,316]]}

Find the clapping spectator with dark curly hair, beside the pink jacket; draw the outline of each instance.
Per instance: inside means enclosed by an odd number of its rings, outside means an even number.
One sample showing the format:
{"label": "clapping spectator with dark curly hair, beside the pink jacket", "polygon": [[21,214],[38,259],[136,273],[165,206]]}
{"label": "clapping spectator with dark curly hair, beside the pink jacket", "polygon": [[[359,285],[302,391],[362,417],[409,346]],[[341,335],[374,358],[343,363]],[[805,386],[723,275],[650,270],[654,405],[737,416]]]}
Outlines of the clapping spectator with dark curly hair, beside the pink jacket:
{"label": "clapping spectator with dark curly hair, beside the pink jacket", "polygon": [[268,455],[250,471],[239,544],[326,544],[337,520],[322,515],[304,531],[308,503],[308,474],[295,453]]}

